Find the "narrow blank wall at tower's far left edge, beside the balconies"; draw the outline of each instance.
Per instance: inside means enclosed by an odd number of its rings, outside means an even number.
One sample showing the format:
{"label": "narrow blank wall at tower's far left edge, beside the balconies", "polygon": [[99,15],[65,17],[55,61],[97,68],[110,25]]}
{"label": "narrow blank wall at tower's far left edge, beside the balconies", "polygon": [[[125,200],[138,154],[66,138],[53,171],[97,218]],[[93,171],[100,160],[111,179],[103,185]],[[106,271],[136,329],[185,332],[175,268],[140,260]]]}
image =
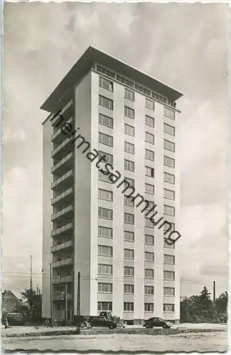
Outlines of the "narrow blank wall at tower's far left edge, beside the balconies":
{"label": "narrow blank wall at tower's far left edge, beside the balconies", "polygon": [[50,262],[52,256],[50,248],[52,246],[52,238],[50,232],[51,223],[51,166],[53,160],[51,158],[52,142],[51,136],[53,127],[48,119],[43,124],[43,293],[42,293],[42,317],[50,318]]}

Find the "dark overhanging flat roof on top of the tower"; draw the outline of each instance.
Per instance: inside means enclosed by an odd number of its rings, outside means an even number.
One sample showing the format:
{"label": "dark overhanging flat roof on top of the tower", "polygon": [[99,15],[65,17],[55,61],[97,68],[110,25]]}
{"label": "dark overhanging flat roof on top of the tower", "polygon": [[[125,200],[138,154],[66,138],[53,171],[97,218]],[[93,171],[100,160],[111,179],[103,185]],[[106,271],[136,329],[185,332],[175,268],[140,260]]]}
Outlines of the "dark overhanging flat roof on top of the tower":
{"label": "dark overhanging flat roof on top of the tower", "polygon": [[75,65],[73,65],[58,86],[55,87],[48,99],[42,104],[41,109],[52,112],[53,108],[57,105],[57,102],[61,97],[63,97],[63,94],[65,94],[67,89],[74,87],[75,84],[90,71],[95,62],[108,69],[114,70],[120,75],[124,75],[125,77],[134,80],[134,82],[153,90],[157,94],[162,94],[167,97],[170,102],[175,102],[183,96],[181,92],[163,84],[163,82],[159,82],[159,80],[154,79],[150,75],[147,75],[144,72],[131,67],[131,65],[90,46],[85,50],[85,53],[81,55],[80,59],[77,60]]}

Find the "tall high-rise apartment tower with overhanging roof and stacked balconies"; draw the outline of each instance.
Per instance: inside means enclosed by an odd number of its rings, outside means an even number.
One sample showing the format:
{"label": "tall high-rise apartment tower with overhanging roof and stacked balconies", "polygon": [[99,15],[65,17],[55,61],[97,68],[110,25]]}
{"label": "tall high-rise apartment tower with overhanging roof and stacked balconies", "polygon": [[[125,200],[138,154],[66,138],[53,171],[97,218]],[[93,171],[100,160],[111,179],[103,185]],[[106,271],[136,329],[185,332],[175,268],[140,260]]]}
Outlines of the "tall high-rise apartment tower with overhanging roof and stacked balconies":
{"label": "tall high-rise apartment tower with overhanging roof and stacked balconies", "polygon": [[179,320],[177,242],[139,202],[178,229],[181,96],[90,47],[42,105],[43,317],[74,320],[80,271],[82,315]]}

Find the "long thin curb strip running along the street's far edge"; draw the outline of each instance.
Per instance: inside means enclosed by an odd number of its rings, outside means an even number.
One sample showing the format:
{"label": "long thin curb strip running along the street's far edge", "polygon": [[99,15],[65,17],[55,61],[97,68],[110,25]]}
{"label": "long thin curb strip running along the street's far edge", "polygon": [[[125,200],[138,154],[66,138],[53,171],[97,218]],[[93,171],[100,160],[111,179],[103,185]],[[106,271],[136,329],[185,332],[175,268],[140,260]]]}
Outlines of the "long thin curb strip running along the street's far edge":
{"label": "long thin curb strip running along the street's far edge", "polygon": [[[205,332],[226,332],[227,329],[91,329],[80,330],[80,335],[100,335],[100,334],[147,334],[147,335],[173,335],[181,333],[205,333]],[[51,330],[43,332],[1,334],[2,338],[16,337],[51,337],[58,335],[77,335],[73,330]]]}

